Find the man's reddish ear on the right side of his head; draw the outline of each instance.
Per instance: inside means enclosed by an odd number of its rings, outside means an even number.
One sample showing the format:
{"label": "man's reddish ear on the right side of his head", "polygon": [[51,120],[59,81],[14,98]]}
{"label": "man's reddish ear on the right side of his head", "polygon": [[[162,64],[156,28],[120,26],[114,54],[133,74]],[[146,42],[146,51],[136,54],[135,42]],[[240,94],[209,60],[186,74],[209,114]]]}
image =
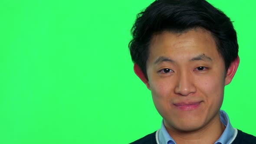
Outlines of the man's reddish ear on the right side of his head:
{"label": "man's reddish ear on the right side of his head", "polygon": [[230,82],[232,81],[236,73],[236,70],[238,68],[239,62],[240,62],[240,58],[239,56],[237,56],[237,58],[231,63],[230,67],[226,72],[225,85],[230,84]]}

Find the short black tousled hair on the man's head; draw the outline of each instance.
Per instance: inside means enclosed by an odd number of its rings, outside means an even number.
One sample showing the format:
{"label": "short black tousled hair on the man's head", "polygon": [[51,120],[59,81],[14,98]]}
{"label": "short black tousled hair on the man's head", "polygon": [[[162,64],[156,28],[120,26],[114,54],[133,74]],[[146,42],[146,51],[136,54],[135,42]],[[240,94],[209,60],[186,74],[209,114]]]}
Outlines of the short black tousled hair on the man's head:
{"label": "short black tousled hair on the man's head", "polygon": [[146,63],[154,34],[182,33],[198,27],[212,33],[227,70],[238,56],[236,30],[230,18],[206,0],[155,0],[138,13],[131,29],[131,59],[147,77]]}

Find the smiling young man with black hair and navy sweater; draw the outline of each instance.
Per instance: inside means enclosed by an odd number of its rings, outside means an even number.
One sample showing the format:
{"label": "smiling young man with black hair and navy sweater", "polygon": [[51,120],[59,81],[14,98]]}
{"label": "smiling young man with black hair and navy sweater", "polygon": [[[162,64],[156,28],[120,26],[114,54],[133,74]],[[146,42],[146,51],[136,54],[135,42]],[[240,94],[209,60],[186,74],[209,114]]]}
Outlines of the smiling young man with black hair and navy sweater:
{"label": "smiling young man with black hair and navy sweater", "polygon": [[230,19],[205,0],[156,0],[138,14],[129,43],[161,129],[131,144],[256,144],[220,111],[240,59]]}

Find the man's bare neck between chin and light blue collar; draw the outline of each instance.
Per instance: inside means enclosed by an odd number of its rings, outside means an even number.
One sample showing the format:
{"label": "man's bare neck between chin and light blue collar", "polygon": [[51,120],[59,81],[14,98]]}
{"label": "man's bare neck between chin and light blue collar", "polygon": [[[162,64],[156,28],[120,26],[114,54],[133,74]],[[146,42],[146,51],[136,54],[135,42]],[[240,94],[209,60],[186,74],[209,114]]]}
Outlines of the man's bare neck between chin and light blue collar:
{"label": "man's bare neck between chin and light blue collar", "polygon": [[179,131],[167,127],[166,130],[177,144],[214,144],[225,128],[218,114],[208,124],[194,131]]}

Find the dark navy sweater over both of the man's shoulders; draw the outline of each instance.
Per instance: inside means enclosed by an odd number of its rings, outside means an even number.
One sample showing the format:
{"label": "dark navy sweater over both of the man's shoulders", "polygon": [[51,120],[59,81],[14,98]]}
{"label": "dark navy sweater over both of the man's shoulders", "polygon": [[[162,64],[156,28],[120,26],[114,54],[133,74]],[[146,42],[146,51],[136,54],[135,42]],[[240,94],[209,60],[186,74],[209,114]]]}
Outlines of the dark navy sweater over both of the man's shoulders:
{"label": "dark navy sweater over both of the man's shoulders", "polygon": [[[251,134],[246,134],[243,131],[237,130],[237,136],[232,144],[256,144],[256,137]],[[156,131],[134,141],[130,144],[157,144]]]}

